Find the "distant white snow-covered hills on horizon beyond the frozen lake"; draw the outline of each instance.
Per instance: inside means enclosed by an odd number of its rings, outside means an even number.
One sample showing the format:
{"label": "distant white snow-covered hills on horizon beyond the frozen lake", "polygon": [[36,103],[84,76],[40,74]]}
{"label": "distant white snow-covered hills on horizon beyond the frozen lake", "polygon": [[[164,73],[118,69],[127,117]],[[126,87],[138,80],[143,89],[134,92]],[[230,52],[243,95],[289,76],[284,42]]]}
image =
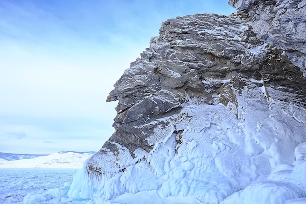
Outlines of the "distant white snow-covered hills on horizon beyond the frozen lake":
{"label": "distant white snow-covered hills on horizon beyond the frozen lake", "polygon": [[25,155],[1,153],[4,158],[15,160],[0,160],[0,168],[82,168],[86,159],[95,152],[57,152],[51,155]]}

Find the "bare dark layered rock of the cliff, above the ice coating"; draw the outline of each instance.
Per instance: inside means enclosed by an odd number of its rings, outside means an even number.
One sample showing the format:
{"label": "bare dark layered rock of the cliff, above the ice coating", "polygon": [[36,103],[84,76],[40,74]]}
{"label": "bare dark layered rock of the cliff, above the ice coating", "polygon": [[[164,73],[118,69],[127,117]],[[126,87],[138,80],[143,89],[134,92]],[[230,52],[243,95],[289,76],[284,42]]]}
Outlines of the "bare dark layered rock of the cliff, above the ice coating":
{"label": "bare dark layered rock of the cliff, above the ice coating", "polygon": [[[96,157],[122,148],[132,157],[138,148],[150,152],[154,142],[148,142],[148,137],[156,127],[169,124],[158,119],[177,113],[190,98],[203,104],[222,103],[240,119],[233,90],[241,92],[250,79],[261,81],[253,86],[264,86],[265,90],[294,93],[295,103],[304,106],[306,80],[300,69],[282,50],[259,40],[245,18],[242,14],[229,18],[198,14],[163,22],[160,35],[151,40],[141,59],[131,63],[108,96],[107,101],[118,100],[113,124],[116,132]],[[271,95],[268,91],[265,94]],[[290,103],[292,98],[282,100]],[[140,128],[152,121],[155,123]],[[104,163],[93,160],[94,167],[88,163],[90,170],[98,165],[105,171]],[[127,165],[117,165],[114,171]]]}

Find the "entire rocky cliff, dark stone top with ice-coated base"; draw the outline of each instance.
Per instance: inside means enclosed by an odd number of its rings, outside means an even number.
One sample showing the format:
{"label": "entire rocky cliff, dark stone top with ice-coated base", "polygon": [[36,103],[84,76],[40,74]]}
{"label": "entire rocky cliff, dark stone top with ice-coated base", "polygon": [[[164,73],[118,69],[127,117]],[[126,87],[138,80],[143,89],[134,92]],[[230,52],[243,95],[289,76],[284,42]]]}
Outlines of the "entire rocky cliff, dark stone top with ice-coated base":
{"label": "entire rocky cliff, dark stone top with ice-coated base", "polygon": [[[162,23],[109,93],[115,133],[69,196],[155,190],[230,203],[297,159],[306,141],[305,1],[230,3],[241,11]],[[270,201],[305,195],[306,185],[290,182],[296,195]]]}

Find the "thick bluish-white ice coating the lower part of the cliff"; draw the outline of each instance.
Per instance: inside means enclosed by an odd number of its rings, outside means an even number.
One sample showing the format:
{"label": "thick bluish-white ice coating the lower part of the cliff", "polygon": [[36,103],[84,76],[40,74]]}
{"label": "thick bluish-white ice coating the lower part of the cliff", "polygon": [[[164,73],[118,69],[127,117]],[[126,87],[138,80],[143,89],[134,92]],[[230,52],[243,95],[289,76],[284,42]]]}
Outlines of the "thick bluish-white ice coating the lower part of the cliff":
{"label": "thick bluish-white ice coating the lower part of the cliff", "polygon": [[160,199],[192,196],[210,204],[281,204],[305,197],[305,124],[287,117],[282,103],[264,108],[269,102],[263,94],[244,97],[242,104],[240,120],[223,105],[186,104],[160,118],[169,126],[156,128],[150,153],[137,149],[121,172],[79,172],[68,196],[111,200],[154,190]]}

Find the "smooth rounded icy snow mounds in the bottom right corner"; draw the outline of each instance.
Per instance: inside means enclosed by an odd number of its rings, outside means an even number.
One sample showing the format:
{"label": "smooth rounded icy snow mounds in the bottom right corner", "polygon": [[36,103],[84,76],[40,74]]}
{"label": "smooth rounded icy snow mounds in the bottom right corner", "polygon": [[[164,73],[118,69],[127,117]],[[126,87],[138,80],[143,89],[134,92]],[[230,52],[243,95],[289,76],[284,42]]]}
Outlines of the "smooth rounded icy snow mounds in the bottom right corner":
{"label": "smooth rounded icy snow mounds in the bottom right corner", "polygon": [[306,199],[306,142],[295,149],[293,165],[279,164],[266,181],[253,183],[226,198],[222,204],[299,204]]}

